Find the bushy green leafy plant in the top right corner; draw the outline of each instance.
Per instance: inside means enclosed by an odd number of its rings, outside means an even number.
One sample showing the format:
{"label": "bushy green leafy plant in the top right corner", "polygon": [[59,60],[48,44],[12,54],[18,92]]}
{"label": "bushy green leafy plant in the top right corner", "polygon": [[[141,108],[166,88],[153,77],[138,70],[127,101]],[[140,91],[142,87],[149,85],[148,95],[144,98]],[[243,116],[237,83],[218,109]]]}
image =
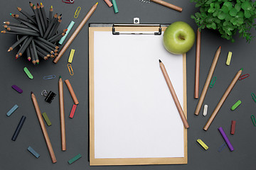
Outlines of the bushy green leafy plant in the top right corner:
{"label": "bushy green leafy plant in the top right corner", "polygon": [[[255,28],[256,1],[252,0],[191,0],[200,12],[191,16],[200,29],[218,30],[222,38],[234,42],[233,35],[250,42],[251,28]],[[256,30],[256,28],[255,28]]]}

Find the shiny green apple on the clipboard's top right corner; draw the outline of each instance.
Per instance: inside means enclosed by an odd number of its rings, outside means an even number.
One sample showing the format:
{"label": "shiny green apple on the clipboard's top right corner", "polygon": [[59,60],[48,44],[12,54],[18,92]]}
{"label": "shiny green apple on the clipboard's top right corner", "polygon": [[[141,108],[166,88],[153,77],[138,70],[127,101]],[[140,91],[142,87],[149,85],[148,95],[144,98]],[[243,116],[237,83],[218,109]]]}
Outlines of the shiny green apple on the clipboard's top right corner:
{"label": "shiny green apple on the clipboard's top right corner", "polygon": [[195,42],[195,33],[188,23],[171,23],[164,31],[164,47],[175,55],[188,52]]}

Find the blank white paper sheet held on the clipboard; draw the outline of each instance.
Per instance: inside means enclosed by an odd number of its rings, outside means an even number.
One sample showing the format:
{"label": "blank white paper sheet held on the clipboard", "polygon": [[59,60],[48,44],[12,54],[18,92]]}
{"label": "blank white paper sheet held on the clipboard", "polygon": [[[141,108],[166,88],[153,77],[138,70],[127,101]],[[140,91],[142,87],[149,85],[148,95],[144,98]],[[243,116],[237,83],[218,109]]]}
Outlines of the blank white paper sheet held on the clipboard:
{"label": "blank white paper sheet held on the clipboard", "polygon": [[184,157],[183,123],[159,67],[183,106],[183,57],[162,38],[95,31],[95,159]]}

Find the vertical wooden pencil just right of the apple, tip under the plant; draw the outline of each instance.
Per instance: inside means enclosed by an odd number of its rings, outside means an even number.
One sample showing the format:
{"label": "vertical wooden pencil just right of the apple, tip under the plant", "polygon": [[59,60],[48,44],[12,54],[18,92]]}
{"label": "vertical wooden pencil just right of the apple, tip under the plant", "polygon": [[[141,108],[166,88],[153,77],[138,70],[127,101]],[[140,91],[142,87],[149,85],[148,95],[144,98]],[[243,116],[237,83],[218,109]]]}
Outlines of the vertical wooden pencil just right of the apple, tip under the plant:
{"label": "vertical wooden pencil just right of the apple, tip under the plant", "polygon": [[195,72],[194,98],[198,98],[199,96],[200,51],[201,51],[201,32],[198,28],[197,36],[196,36],[196,72]]}

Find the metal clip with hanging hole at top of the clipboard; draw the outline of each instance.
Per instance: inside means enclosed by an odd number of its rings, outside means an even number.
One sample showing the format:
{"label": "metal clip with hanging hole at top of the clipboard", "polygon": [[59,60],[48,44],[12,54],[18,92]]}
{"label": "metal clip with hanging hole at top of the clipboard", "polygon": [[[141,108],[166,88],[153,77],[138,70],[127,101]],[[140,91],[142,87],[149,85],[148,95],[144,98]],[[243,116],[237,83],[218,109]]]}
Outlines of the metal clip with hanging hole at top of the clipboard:
{"label": "metal clip with hanging hole at top of the clipboard", "polygon": [[[156,33],[120,33],[116,31],[117,27],[159,27],[159,32]],[[161,24],[140,24],[139,18],[134,18],[133,24],[127,23],[114,23],[112,26],[113,35],[161,35]]]}

